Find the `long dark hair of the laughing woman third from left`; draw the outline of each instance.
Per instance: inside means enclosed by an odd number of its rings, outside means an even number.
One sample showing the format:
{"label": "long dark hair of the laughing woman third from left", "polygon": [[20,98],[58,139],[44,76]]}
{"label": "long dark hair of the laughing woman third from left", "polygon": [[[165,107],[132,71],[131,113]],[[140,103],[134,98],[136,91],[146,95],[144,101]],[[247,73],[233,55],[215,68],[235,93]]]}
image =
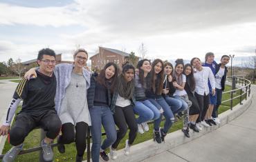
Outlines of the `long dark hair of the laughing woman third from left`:
{"label": "long dark hair of the laughing woman third from left", "polygon": [[[115,74],[113,74],[113,77],[111,77],[111,79],[106,79],[105,77],[105,71],[107,68],[109,68],[109,66],[113,65],[113,68],[115,68]],[[118,65],[116,65],[116,63],[113,62],[109,62],[107,63],[104,68],[102,70],[100,70],[100,74],[97,77],[97,81],[98,83],[100,83],[101,85],[104,85],[104,87],[109,88],[111,90],[111,92],[113,92],[116,88],[116,84],[118,82]],[[109,83],[107,83],[109,82]]]}

